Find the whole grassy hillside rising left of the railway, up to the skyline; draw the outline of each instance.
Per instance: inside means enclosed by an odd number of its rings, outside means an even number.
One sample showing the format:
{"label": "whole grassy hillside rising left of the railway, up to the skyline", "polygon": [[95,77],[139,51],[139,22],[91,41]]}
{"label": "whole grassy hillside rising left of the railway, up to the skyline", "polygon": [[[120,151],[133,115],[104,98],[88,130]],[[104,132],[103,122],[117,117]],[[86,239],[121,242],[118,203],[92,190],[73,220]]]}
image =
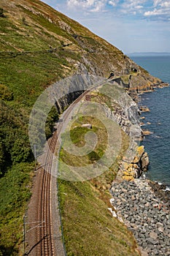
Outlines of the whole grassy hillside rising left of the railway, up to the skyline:
{"label": "whole grassy hillside rising left of the railway, up to the skyline", "polygon": [[[0,254],[18,255],[34,176],[28,119],[36,98],[68,75],[88,72],[108,77],[110,72],[130,75],[132,67],[139,73],[143,70],[104,39],[39,0],[1,0],[0,49]],[[47,136],[57,116],[50,113]]]}

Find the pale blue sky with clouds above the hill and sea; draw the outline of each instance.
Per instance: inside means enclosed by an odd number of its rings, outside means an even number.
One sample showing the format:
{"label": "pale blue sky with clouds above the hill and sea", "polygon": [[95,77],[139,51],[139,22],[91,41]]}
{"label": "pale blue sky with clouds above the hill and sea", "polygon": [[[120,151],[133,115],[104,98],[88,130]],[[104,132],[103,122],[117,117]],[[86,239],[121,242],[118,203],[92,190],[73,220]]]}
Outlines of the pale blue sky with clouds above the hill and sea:
{"label": "pale blue sky with clouds above the hill and sea", "polygon": [[170,52],[170,0],[43,0],[123,53]]}

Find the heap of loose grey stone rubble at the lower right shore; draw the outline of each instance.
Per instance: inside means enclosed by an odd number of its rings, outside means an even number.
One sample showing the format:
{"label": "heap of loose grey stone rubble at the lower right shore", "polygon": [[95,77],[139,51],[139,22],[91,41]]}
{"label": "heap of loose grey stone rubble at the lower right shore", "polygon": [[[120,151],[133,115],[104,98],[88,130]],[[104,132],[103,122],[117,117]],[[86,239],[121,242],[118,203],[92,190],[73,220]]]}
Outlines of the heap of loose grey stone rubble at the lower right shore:
{"label": "heap of loose grey stone rubble at the lower right shore", "polygon": [[114,182],[110,200],[115,217],[134,233],[144,256],[170,255],[170,211],[142,179]]}

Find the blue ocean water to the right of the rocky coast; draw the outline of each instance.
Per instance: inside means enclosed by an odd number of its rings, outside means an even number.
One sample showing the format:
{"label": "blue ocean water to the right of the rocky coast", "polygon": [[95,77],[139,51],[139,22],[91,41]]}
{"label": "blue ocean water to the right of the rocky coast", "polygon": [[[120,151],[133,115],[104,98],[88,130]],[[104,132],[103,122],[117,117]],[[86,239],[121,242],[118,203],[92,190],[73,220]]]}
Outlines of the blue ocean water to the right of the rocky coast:
{"label": "blue ocean water to the right of the rocky coast", "polygon": [[[170,83],[170,56],[131,59],[147,69],[151,75]],[[150,108],[150,112],[142,113],[145,117],[142,120],[145,124],[142,128],[152,132],[151,135],[145,136],[142,142],[150,157],[150,167],[146,176],[170,187],[170,87],[142,94],[140,104]]]}

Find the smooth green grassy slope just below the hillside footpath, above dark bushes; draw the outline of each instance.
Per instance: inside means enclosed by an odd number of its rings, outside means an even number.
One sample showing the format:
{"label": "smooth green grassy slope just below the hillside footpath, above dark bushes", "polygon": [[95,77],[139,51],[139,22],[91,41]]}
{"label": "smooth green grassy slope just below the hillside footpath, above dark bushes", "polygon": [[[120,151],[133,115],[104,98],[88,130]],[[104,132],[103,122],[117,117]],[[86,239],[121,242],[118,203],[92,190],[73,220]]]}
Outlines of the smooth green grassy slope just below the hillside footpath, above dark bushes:
{"label": "smooth green grassy slope just below the hillside footpath, above dark bushes", "polygon": [[61,59],[54,53],[31,53],[15,58],[2,58],[1,83],[12,91],[17,105],[30,108],[45,86],[63,75],[61,65],[66,64],[66,59]]}

